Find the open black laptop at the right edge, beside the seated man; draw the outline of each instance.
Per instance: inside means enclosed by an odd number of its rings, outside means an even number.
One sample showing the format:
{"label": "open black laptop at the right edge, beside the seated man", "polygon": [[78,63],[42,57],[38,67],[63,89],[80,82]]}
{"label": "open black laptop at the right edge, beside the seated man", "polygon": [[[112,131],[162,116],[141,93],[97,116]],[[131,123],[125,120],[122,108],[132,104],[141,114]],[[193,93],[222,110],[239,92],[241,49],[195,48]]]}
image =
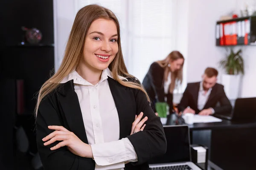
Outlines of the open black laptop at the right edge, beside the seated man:
{"label": "open black laptop at the right edge, beside the seated man", "polygon": [[256,120],[256,97],[238,98],[230,116],[216,114],[216,117],[229,120]]}

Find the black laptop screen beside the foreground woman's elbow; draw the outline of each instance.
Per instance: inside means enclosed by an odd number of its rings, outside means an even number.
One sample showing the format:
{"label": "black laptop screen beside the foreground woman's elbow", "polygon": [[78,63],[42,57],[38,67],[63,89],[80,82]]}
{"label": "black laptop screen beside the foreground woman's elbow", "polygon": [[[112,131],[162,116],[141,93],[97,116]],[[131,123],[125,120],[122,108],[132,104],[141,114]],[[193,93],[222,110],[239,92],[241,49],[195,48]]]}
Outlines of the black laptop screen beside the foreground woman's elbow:
{"label": "black laptop screen beside the foreground woman's elbow", "polygon": [[163,127],[166,141],[166,154],[154,157],[149,164],[164,164],[190,160],[189,128],[186,125]]}

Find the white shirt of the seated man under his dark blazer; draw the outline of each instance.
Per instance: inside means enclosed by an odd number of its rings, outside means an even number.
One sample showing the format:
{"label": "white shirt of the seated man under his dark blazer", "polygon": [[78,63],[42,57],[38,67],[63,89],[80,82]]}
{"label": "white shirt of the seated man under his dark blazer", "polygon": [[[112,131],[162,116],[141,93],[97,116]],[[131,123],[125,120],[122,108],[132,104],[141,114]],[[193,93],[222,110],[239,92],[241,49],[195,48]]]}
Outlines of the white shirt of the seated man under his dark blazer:
{"label": "white shirt of the seated man under his dark blazer", "polygon": [[[209,96],[211,94],[212,88],[209,88],[209,90],[205,93],[203,88],[203,82],[200,82],[199,92],[198,92],[198,109],[201,111],[207,100],[209,99]],[[210,108],[212,110],[212,114],[214,113],[214,109]]]}

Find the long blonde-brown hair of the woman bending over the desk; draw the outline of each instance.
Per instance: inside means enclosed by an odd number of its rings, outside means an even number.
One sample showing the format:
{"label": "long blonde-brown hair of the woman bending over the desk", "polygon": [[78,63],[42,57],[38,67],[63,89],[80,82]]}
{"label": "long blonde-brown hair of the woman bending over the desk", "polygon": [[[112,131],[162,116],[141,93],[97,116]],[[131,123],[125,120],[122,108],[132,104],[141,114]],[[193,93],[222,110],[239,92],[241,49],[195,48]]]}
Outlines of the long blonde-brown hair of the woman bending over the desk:
{"label": "long blonde-brown hair of the woman bending over the desk", "polygon": [[[169,74],[169,63],[170,61],[175,61],[177,59],[183,59],[184,63],[184,57],[179,51],[172,51],[165,59],[157,61],[157,63],[165,69],[164,71],[164,80],[168,79],[168,74]],[[173,93],[173,90],[175,88],[178,88],[180,84],[182,83],[183,79],[183,65],[181,65],[180,70],[172,72],[171,74],[171,84],[169,86],[169,92]]]}

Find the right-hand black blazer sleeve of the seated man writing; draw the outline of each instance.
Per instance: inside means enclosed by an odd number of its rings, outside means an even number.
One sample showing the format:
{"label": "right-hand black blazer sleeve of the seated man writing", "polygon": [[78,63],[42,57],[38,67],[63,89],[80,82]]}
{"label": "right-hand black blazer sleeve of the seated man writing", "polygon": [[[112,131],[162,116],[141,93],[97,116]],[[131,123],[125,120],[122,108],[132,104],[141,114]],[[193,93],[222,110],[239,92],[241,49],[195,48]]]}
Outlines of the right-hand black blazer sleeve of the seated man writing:
{"label": "right-hand black blazer sleeve of the seated man writing", "polygon": [[220,106],[214,107],[214,113],[231,113],[232,111],[232,105],[227,98],[225,91],[224,91],[224,86],[221,85],[221,91],[220,91],[220,98],[218,102],[220,102]]}

